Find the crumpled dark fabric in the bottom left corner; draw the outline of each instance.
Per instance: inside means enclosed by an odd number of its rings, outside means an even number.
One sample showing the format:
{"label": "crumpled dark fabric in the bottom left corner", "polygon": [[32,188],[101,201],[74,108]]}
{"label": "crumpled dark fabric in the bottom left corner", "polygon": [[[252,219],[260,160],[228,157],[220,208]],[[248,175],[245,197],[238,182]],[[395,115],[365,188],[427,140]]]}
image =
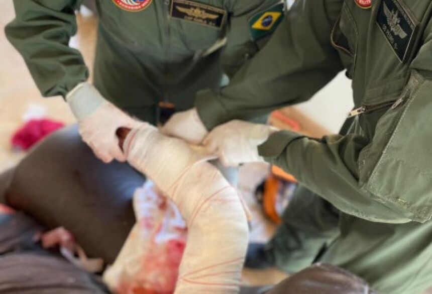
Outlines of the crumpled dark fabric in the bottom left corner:
{"label": "crumpled dark fabric in the bottom left corner", "polygon": [[38,242],[42,231],[23,213],[0,214],[0,293],[109,293],[98,276],[44,250]]}

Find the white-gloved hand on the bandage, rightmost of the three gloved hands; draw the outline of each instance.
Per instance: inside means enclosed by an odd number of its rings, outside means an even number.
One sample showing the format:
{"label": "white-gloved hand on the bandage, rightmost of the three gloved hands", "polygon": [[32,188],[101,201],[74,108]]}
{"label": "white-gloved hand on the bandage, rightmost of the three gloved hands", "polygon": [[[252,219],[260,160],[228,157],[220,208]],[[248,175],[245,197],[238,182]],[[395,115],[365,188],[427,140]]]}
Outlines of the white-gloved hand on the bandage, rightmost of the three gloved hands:
{"label": "white-gloved hand on the bandage, rightmost of the three gloved hands", "polygon": [[214,128],[203,145],[209,153],[218,154],[225,166],[260,162],[263,158],[258,154],[258,145],[276,131],[271,126],[234,120]]}

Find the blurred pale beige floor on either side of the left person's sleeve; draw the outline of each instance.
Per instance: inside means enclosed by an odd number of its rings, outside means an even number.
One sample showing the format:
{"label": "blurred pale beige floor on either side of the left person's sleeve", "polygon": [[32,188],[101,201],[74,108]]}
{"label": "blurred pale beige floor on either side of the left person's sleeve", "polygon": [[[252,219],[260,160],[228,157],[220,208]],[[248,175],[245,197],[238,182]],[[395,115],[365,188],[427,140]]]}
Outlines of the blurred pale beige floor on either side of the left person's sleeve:
{"label": "blurred pale beige floor on either side of the left person's sleeve", "polygon": [[[12,150],[10,139],[24,123],[25,116],[46,114],[46,117],[64,122],[74,122],[69,107],[61,97],[43,98],[27,70],[22,57],[5,37],[5,26],[14,18],[12,1],[0,0],[0,171],[13,166],[23,152]],[[87,65],[92,64],[96,19],[78,16],[78,35],[71,45],[80,48]],[[85,34],[83,34],[85,32]]]}

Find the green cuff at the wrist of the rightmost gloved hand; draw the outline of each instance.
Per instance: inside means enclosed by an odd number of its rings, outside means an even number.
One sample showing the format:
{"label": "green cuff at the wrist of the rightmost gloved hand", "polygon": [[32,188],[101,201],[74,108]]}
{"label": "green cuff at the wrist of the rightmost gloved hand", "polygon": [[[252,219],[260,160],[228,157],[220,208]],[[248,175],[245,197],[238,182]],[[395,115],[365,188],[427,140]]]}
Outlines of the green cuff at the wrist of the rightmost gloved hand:
{"label": "green cuff at the wrist of the rightmost gloved hand", "polygon": [[267,141],[258,146],[258,154],[264,157],[266,161],[270,161],[271,159],[280,156],[292,141],[304,137],[305,136],[291,131],[273,133]]}

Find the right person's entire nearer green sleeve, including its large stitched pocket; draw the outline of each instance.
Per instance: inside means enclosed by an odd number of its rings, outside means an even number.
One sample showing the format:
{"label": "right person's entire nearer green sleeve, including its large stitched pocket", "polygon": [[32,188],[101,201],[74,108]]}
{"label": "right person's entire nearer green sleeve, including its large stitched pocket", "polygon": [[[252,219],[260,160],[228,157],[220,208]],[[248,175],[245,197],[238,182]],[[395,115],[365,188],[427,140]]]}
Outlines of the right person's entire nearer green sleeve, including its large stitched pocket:
{"label": "right person's entire nearer green sleeve, including its large stitched pocket", "polygon": [[432,23],[425,36],[404,104],[383,114],[371,142],[357,134],[315,140],[282,131],[259,147],[260,155],[347,214],[385,223],[430,220]]}

